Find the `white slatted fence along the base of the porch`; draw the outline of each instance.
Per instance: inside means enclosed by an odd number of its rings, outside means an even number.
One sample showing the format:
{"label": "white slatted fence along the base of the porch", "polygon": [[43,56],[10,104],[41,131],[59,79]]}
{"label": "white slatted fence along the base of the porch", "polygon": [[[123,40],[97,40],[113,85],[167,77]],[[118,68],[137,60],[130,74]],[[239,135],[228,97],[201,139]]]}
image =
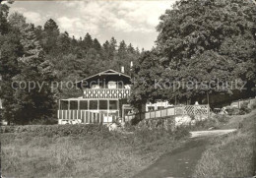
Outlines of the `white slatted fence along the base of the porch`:
{"label": "white slatted fence along the base of the porch", "polygon": [[58,119],[59,124],[112,123],[117,120],[117,116],[88,110],[58,110]]}

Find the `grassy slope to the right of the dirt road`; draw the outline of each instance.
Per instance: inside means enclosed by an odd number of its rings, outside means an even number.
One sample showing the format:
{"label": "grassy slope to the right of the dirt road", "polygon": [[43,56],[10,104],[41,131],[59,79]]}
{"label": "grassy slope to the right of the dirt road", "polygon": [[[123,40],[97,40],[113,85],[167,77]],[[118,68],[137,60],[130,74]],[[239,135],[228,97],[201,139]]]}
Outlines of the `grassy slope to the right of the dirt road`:
{"label": "grassy slope to the right of the dirt road", "polygon": [[[215,138],[199,161],[194,177],[248,177],[254,174],[256,110],[244,116],[234,116],[224,128],[239,128],[237,132]],[[253,153],[254,151],[254,153]]]}

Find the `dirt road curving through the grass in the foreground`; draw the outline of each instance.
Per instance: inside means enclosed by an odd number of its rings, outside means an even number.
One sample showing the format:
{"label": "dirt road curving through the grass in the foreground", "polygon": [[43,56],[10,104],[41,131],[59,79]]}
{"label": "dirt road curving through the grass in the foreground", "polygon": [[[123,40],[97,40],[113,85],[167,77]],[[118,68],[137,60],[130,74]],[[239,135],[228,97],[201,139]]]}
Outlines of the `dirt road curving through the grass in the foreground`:
{"label": "dirt road curving through the grass in the foreground", "polygon": [[191,177],[200,160],[209,137],[223,135],[235,130],[191,132],[191,140],[181,148],[163,154],[154,164],[135,175],[134,178]]}

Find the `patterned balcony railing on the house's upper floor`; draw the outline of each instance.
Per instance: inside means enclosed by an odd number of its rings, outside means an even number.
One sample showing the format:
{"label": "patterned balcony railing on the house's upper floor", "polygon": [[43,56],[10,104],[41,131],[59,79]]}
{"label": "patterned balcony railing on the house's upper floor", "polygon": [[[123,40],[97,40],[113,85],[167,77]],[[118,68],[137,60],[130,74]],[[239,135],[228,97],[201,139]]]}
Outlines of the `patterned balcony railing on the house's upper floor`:
{"label": "patterned balcony railing on the house's upper floor", "polygon": [[131,89],[85,89],[84,98],[127,98]]}

